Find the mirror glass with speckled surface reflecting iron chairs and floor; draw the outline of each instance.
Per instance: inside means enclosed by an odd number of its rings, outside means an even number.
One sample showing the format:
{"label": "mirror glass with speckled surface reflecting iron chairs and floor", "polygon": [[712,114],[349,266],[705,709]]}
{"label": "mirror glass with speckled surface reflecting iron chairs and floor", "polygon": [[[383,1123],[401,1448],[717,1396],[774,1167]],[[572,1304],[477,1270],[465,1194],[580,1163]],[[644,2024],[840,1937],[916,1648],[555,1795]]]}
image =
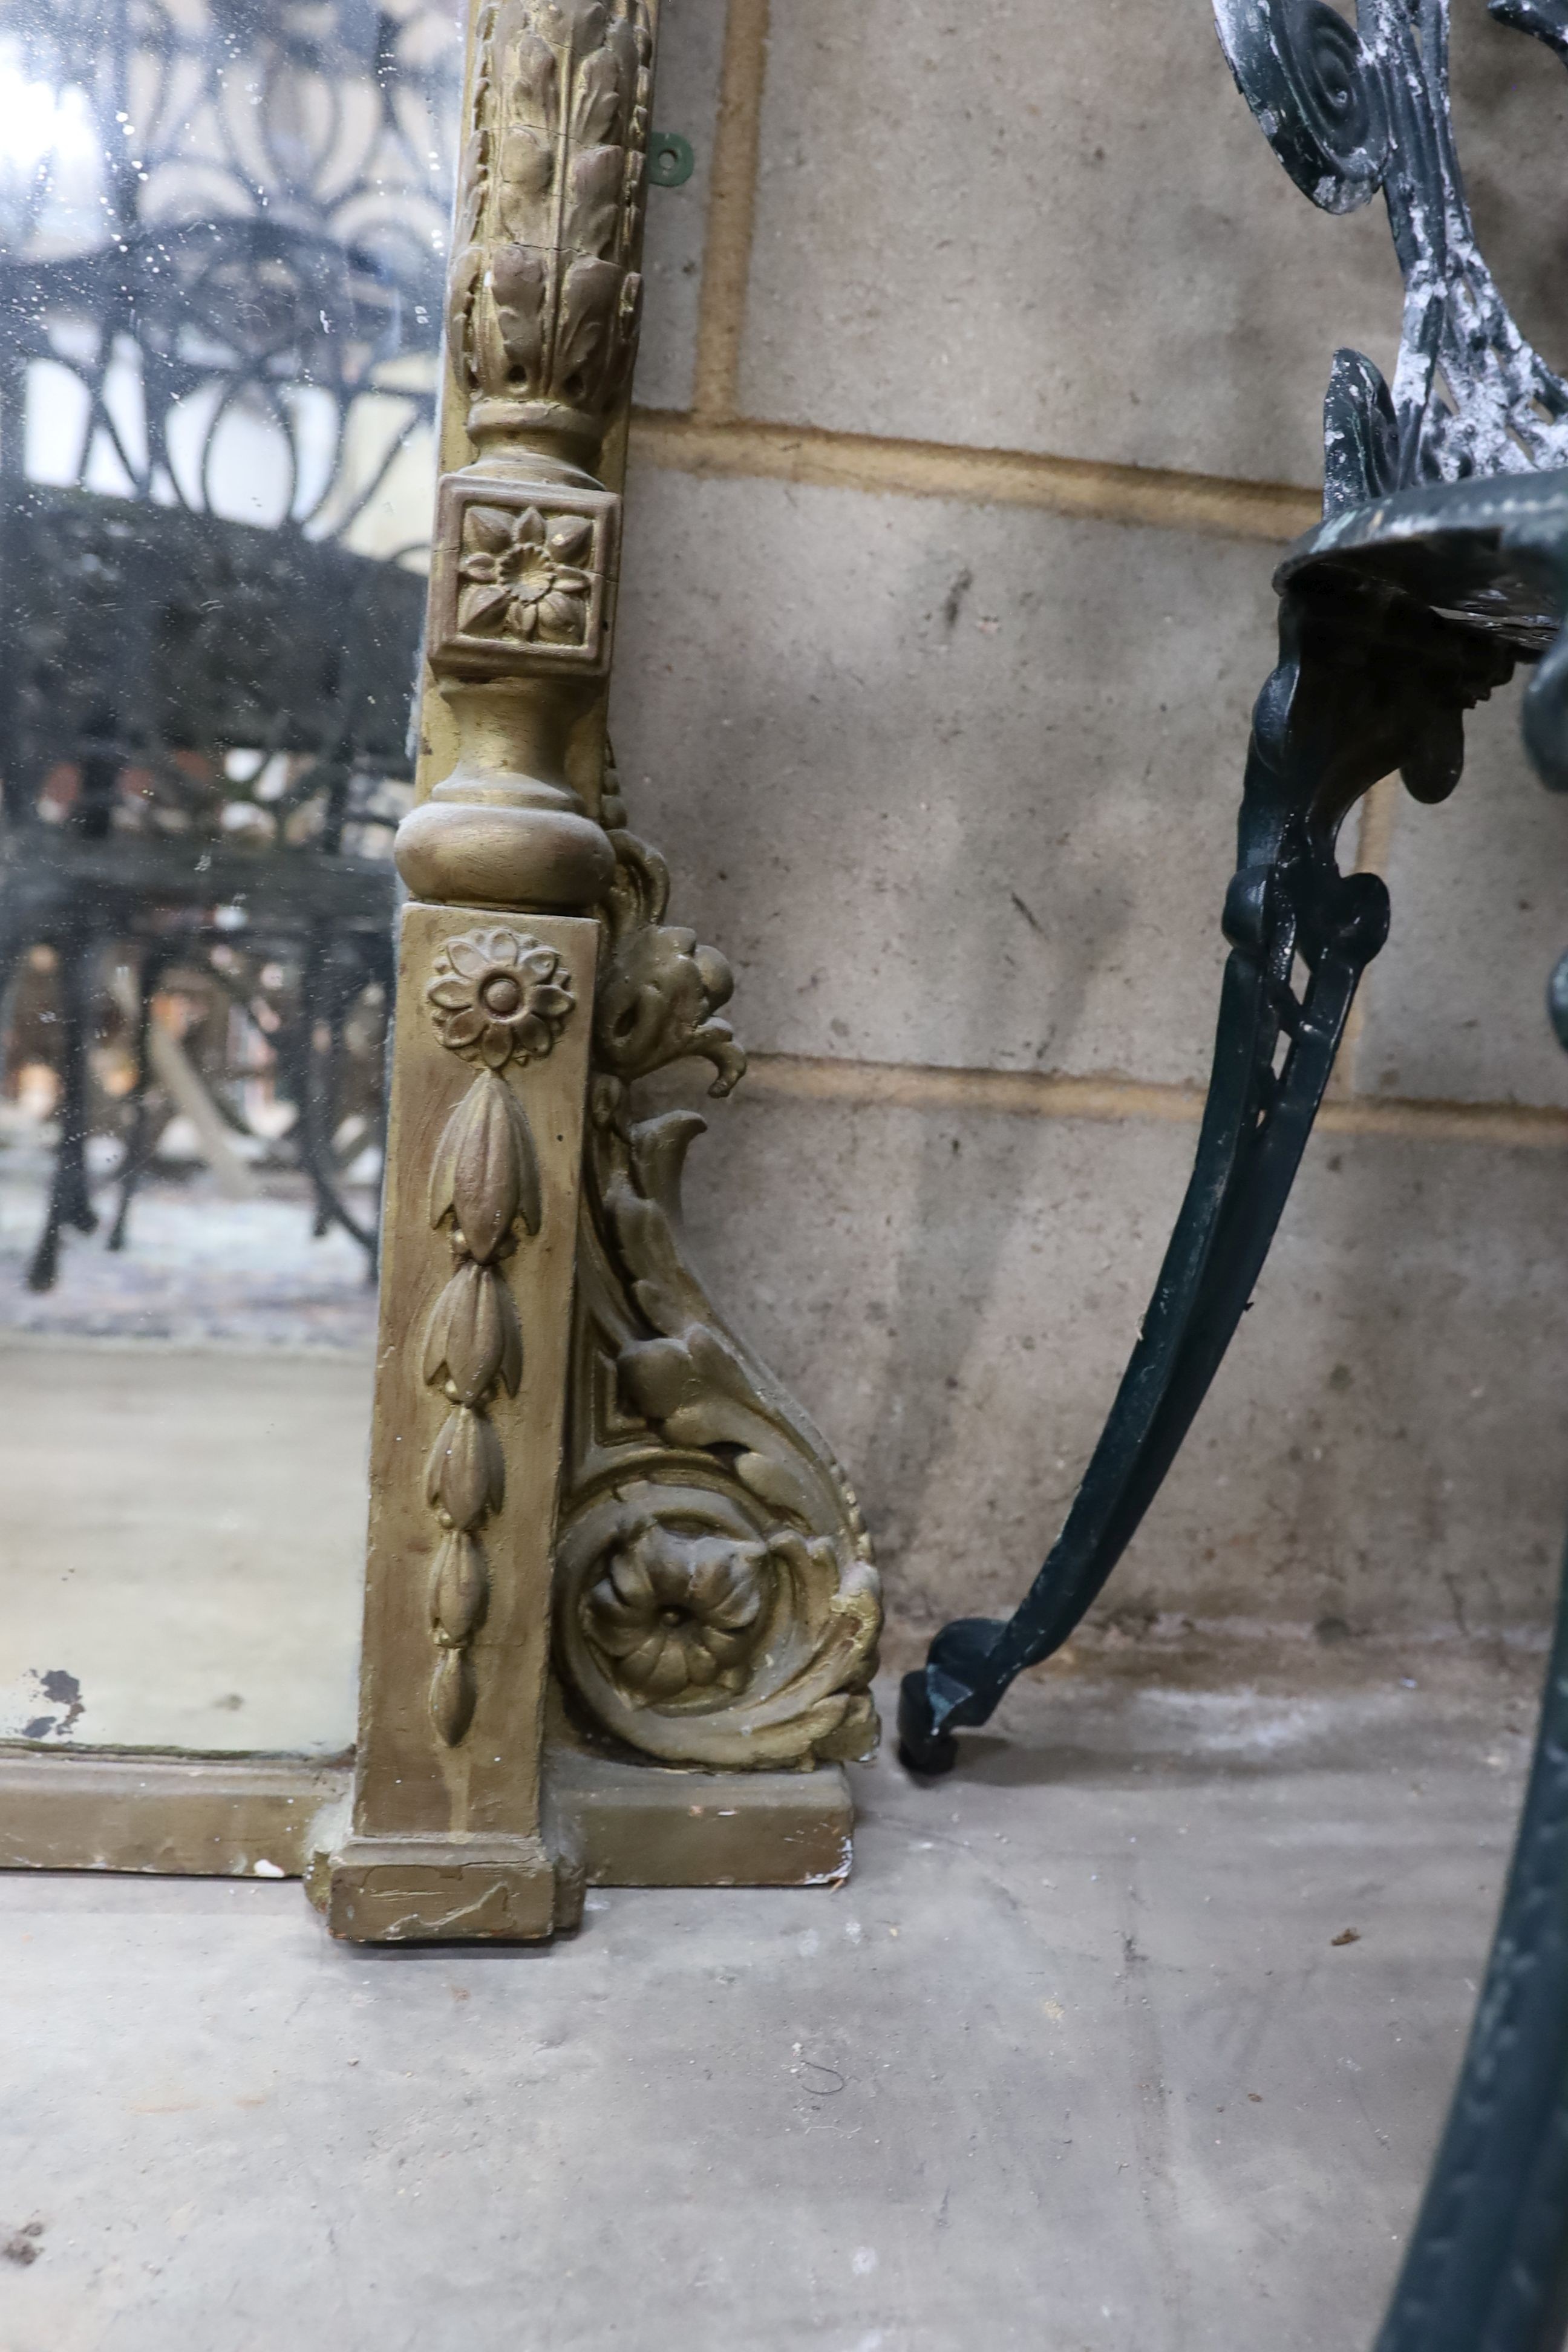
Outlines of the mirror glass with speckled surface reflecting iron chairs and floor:
{"label": "mirror glass with speckled surface reflecting iron chairs and floor", "polygon": [[0,1738],[353,1738],[461,0],[0,0]]}

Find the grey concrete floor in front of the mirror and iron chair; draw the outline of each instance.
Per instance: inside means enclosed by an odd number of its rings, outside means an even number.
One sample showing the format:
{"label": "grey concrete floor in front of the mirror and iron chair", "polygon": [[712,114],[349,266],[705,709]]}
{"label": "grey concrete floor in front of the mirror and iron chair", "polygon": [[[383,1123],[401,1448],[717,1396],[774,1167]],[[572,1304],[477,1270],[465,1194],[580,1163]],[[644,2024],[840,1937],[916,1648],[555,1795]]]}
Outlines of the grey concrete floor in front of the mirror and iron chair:
{"label": "grey concrete floor in front of the mirror and iron chair", "polygon": [[543,1952],[5,1877],[0,2347],[1368,2343],[1537,1677],[1086,1646],[952,1780],[858,1773],[844,1889]]}

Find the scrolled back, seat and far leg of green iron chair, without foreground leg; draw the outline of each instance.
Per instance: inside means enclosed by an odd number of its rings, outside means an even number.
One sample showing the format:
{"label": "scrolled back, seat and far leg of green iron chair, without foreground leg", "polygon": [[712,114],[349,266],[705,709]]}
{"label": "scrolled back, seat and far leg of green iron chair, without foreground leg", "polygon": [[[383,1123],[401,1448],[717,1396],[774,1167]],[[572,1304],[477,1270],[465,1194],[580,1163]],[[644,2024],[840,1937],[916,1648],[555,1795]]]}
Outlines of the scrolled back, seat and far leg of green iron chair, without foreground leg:
{"label": "scrolled back, seat and far leg of green iron chair, without foreground leg", "polygon": [[[1493,14],[1568,54],[1556,0],[1493,0]],[[1215,16],[1295,183],[1328,212],[1382,188],[1406,282],[1401,353],[1392,386],[1361,353],[1335,355],[1326,522],[1276,579],[1281,661],[1253,715],[1213,1075],[1154,1301],[1025,1602],[1009,1621],[943,1628],[905,1677],[900,1743],[924,1771],[945,1771],[954,1729],[985,1722],[1095,1599],[1246,1308],[1387,931],[1382,884],[1338,870],[1345,814],[1394,769],[1415,800],[1443,800],[1465,762],[1465,710],[1542,654],[1526,734],[1549,781],[1568,776],[1556,724],[1568,656],[1547,652],[1561,517],[1530,496],[1540,482],[1512,503],[1493,494],[1497,475],[1568,463],[1568,386],[1519,334],[1474,240],[1448,120],[1448,0],[1359,0],[1354,26],[1328,0],[1215,0]],[[1505,586],[1512,539],[1530,546]]]}

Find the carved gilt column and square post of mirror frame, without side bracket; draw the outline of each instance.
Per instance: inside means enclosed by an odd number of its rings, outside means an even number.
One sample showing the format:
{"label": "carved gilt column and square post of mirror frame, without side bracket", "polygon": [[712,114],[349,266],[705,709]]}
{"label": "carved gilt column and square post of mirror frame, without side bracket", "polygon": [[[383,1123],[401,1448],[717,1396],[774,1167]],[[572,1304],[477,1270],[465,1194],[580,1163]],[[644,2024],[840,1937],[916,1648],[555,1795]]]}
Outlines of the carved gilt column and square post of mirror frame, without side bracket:
{"label": "carved gilt column and square post of mirror frame, without side bracket", "polygon": [[[654,14],[482,0],[449,294],[425,734],[402,917],[353,1835],[341,1936],[548,1936],[559,1477],[604,828],[569,781],[602,696],[637,336]],[[433,710],[440,694],[444,710]]]}

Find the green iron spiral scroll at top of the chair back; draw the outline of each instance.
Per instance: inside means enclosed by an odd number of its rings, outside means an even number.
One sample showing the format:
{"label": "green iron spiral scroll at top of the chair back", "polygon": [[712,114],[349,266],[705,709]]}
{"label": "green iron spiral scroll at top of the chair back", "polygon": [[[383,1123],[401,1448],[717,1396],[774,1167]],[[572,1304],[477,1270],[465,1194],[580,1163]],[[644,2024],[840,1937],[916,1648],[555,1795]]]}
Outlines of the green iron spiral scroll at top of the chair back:
{"label": "green iron spiral scroll at top of the chair back", "polygon": [[1241,96],[1286,172],[1324,212],[1382,186],[1389,120],[1378,68],[1328,0],[1215,0]]}

